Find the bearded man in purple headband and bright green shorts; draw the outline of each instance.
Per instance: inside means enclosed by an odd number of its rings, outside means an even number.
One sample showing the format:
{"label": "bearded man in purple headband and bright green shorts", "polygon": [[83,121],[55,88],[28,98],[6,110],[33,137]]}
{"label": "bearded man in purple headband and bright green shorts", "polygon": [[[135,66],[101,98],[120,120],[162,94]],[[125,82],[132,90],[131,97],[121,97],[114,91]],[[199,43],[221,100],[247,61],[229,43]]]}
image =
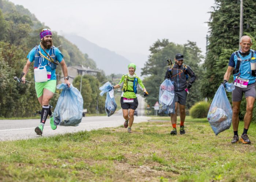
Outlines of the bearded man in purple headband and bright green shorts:
{"label": "bearded man in purple headband and bright green shorts", "polygon": [[41,121],[38,127],[35,128],[37,135],[42,135],[44,124],[48,115],[50,116],[50,126],[53,130],[57,128],[54,125],[53,113],[49,108],[50,100],[52,99],[56,89],[56,66],[60,63],[64,75],[65,83],[70,86],[68,81],[68,70],[63,59],[63,55],[57,47],[52,44],[52,31],[50,29],[42,29],[40,32],[41,42],[35,46],[27,55],[27,63],[23,68],[24,76],[22,82],[25,83],[26,75],[29,72],[29,67],[34,62],[35,75],[35,91],[37,99],[42,106]]}

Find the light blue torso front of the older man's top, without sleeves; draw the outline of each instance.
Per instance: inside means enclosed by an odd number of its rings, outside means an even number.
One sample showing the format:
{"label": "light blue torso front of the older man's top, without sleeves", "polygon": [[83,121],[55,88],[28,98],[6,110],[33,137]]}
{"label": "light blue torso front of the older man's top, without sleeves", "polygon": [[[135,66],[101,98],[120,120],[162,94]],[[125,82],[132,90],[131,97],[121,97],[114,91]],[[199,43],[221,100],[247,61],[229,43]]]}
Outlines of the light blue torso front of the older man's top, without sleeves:
{"label": "light blue torso front of the older man's top, without sleeves", "polygon": [[235,55],[234,55],[235,68],[237,67],[238,62],[240,62],[240,66],[239,66],[239,72],[233,74],[234,80],[236,80],[236,76],[239,76],[240,78],[248,79],[249,80],[248,84],[255,83],[256,76],[251,75],[251,63],[250,63],[251,58],[254,56],[254,52],[255,52],[254,50],[250,50],[250,54],[245,57],[241,56],[239,51],[235,52]]}

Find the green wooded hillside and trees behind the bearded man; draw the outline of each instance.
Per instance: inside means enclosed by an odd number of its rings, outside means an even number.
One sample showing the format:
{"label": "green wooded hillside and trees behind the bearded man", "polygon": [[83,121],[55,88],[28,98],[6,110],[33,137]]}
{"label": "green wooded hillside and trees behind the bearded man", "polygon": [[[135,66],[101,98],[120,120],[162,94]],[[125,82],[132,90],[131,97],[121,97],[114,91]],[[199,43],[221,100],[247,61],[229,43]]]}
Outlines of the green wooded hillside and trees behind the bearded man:
{"label": "green wooded hillside and trees behind the bearded man", "polygon": [[[38,21],[28,9],[7,0],[0,0],[0,117],[33,116],[37,110],[41,110],[34,82],[23,85],[15,82],[13,78],[19,77],[22,73],[26,56],[39,44],[39,32],[43,28],[49,27]],[[67,66],[83,65],[97,69],[93,59],[54,31],[53,44],[56,47],[60,46]],[[61,67],[57,67],[56,73],[61,72]],[[30,67],[26,79],[34,80],[33,66]],[[98,88],[103,80],[104,74],[98,74],[97,77],[84,75],[82,78],[84,108],[87,108],[88,113],[96,113],[97,100],[99,113],[105,112],[104,97],[98,97]],[[80,88],[80,76],[75,78],[73,84]],[[56,90],[50,102],[52,106],[56,105],[59,94],[60,91]]]}

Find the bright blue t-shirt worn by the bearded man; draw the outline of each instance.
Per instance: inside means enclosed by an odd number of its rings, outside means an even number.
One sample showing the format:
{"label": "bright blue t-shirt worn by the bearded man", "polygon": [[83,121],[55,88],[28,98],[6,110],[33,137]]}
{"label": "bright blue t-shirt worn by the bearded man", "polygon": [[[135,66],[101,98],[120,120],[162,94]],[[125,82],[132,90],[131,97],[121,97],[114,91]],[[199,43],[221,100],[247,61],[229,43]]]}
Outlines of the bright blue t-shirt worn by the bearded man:
{"label": "bright blue t-shirt worn by the bearded man", "polygon": [[[42,50],[41,46],[39,45],[38,47],[39,47],[41,53],[42,53],[44,56],[47,57],[47,55],[45,54],[45,52]],[[50,49],[46,49],[45,51],[49,54]],[[38,54],[39,54],[39,53],[38,53]],[[55,47],[55,57],[56,57],[56,60],[57,60],[59,63],[63,60],[63,57],[64,57],[64,56],[61,54],[60,50],[59,50],[57,47]],[[30,62],[33,62],[33,61],[35,60],[35,48],[33,48],[33,49],[29,52],[29,54],[27,55],[27,59],[29,59]],[[40,64],[39,66],[45,66],[45,65],[47,65],[48,63],[51,63],[51,62],[49,62],[47,59],[45,59],[45,58],[42,57],[42,61],[41,61],[41,64]],[[53,64],[53,63],[51,63],[51,64]],[[52,67],[50,67],[49,65],[47,65],[45,68],[46,68],[46,70],[47,70],[48,72],[51,72],[51,78],[50,78],[50,80],[56,80],[55,69],[52,69]]]}

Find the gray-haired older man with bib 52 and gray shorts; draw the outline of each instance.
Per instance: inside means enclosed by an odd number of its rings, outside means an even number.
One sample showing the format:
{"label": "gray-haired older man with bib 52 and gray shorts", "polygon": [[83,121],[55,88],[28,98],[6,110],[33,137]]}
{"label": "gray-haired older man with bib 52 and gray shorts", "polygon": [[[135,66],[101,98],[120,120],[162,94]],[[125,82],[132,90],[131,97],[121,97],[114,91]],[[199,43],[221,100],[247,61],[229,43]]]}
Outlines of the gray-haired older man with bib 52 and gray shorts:
{"label": "gray-haired older man with bib 52 and gray shorts", "polygon": [[240,104],[243,94],[246,98],[246,113],[244,116],[244,131],[241,135],[240,141],[242,143],[250,144],[251,141],[247,135],[251,120],[253,104],[255,102],[256,91],[255,91],[255,79],[256,79],[256,68],[255,58],[256,52],[251,50],[252,39],[249,36],[242,36],[240,40],[241,50],[234,52],[230,59],[227,71],[224,75],[223,85],[229,80],[231,73],[233,73],[233,83],[235,90],[232,91],[232,104],[233,104],[233,115],[232,125],[234,131],[234,137],[231,143],[238,143],[238,124],[239,124],[239,111]]}

